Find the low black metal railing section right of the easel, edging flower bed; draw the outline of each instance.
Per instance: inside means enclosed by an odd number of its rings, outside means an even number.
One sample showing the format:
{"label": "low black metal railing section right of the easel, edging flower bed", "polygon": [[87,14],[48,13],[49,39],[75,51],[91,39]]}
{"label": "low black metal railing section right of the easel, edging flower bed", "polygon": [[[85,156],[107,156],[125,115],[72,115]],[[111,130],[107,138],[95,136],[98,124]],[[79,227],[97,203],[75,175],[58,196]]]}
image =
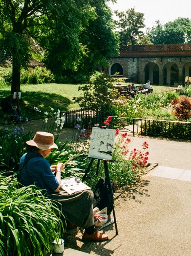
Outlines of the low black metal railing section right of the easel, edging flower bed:
{"label": "low black metal railing section right of the easel, edging flower bed", "polygon": [[112,116],[110,128],[133,135],[191,140],[190,122]]}

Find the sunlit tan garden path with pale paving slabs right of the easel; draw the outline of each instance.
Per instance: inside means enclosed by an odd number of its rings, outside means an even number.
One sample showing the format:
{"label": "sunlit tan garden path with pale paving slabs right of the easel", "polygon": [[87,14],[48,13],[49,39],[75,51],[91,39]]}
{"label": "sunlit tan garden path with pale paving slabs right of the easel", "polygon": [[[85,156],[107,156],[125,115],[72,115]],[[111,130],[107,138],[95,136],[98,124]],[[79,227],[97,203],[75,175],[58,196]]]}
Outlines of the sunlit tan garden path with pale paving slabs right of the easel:
{"label": "sunlit tan garden path with pale paving slabs right of the easel", "polygon": [[[40,120],[25,124],[37,131]],[[70,139],[72,129],[63,129],[61,139]],[[118,236],[110,225],[103,232],[109,240],[83,243],[80,230],[65,243],[74,250],[100,256],[189,256],[191,255],[191,143],[130,137],[130,148],[149,144],[149,163],[159,166],[115,200]],[[76,237],[75,237],[76,235]],[[61,255],[61,254],[59,254]],[[63,254],[81,255],[80,252]]]}

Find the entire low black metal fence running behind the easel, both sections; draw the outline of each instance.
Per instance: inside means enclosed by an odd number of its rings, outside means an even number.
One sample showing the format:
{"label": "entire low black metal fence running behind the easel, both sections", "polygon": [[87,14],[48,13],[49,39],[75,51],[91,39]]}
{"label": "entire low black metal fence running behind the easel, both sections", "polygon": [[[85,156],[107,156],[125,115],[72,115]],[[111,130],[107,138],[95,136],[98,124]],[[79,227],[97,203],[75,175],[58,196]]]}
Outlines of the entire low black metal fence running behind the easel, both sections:
{"label": "entire low black metal fence running behind the easel, both sections", "polygon": [[[65,127],[74,127],[81,120],[84,127],[103,125],[106,117],[96,116],[92,110],[82,109],[65,111]],[[155,120],[112,116],[111,129],[120,129],[133,135],[191,140],[191,123],[181,121]]]}

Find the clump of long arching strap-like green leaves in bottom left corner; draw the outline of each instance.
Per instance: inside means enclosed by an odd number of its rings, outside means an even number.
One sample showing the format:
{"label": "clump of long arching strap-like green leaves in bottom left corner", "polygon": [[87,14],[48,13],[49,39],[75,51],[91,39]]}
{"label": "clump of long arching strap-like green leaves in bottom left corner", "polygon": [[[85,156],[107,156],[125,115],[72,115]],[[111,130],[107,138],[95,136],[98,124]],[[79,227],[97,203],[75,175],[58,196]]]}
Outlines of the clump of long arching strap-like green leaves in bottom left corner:
{"label": "clump of long arching strap-like green leaves in bottom left corner", "polygon": [[44,256],[61,238],[59,209],[34,185],[18,188],[13,176],[0,174],[0,255]]}

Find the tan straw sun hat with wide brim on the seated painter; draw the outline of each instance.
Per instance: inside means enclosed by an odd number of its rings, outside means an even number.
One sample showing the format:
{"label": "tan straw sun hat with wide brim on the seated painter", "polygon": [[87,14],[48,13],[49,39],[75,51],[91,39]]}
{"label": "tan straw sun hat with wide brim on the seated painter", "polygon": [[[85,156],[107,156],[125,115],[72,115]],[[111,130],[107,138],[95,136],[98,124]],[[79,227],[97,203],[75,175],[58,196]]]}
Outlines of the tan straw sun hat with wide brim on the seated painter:
{"label": "tan straw sun hat with wide brim on the seated painter", "polygon": [[37,131],[34,138],[26,142],[29,146],[36,146],[39,149],[47,150],[50,148],[58,148],[54,143],[54,136],[52,133]]}

